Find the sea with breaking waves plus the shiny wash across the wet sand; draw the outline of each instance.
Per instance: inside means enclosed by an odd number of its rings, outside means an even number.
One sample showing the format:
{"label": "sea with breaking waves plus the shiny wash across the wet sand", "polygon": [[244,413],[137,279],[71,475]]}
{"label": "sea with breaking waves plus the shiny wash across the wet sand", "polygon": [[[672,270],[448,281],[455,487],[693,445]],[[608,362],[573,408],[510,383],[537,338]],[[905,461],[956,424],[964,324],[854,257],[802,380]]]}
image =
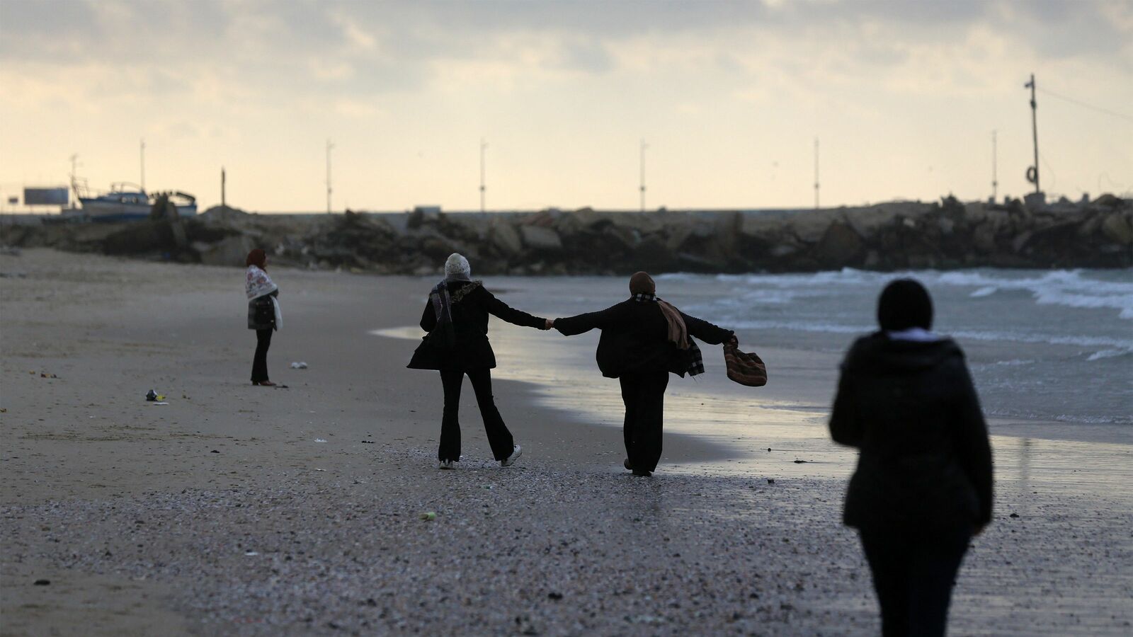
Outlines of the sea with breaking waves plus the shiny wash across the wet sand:
{"label": "sea with breaking waves plus the shiny wash across the wet sand", "polygon": [[[768,368],[766,387],[738,385],[726,379],[721,348],[701,343],[707,373],[671,376],[666,431],[749,451],[774,440],[820,461],[833,449],[825,423],[838,364],[855,338],[877,329],[877,297],[898,277],[929,289],[932,329],[964,350],[993,434],[1133,443],[1131,270],[658,275],[658,296],[735,330],[741,349],[758,353]],[[433,282],[423,279],[418,301]],[[629,296],[627,277],[485,283],[509,305],[547,317],[599,311]],[[382,333],[421,334],[416,326]],[[602,377],[594,360],[597,331],[566,338],[493,318],[489,336],[495,377],[535,383],[545,404],[579,419],[621,425],[619,383]],[[1019,430],[1029,424],[1041,425],[1040,433]]]}

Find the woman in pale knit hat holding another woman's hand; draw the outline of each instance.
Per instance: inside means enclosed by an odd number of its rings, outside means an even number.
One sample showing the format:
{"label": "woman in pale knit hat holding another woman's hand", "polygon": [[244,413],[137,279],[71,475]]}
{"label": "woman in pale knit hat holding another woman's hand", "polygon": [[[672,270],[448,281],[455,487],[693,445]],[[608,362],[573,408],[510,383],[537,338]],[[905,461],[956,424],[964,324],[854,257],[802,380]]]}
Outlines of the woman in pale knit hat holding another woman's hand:
{"label": "woman in pale knit hat holding another woman's hand", "polygon": [[550,330],[551,321],[513,309],[471,280],[471,266],[463,256],[453,253],[444,262],[444,280],[437,283],[425,301],[420,326],[428,334],[414,351],[408,367],[438,370],[444,388],[444,410],[441,417],[441,443],[436,458],[440,468],[452,469],[460,461],[460,385],[465,376],[472,383],[476,404],[484,418],[493,457],[500,466],[510,467],[522,452],[508,431],[492,397],[492,372],[495,353],[488,342],[488,314],[514,325]]}

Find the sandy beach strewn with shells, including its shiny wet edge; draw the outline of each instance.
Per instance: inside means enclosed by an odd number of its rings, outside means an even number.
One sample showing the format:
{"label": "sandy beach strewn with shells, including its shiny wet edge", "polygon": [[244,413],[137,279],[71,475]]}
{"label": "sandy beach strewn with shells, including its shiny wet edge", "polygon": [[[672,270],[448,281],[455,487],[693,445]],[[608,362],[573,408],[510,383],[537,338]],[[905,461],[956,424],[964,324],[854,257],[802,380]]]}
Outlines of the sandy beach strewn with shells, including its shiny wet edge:
{"label": "sandy beach strewn with shells, including its shiny wet edge", "polygon": [[[440,382],[404,368],[416,343],[398,338],[431,278],[273,269],[287,388],[269,389],[248,382],[240,269],[31,249],[0,275],[0,635],[879,630],[841,524],[855,455],[824,425],[836,359],[770,348],[778,385],[731,402],[674,382],[662,468],[638,479],[616,391],[596,370],[576,391],[553,364],[593,343],[493,323],[523,456],[489,461],[466,383],[465,460],[437,472]],[[704,384],[726,384],[708,363]],[[750,430],[714,433],[738,408]],[[995,519],[952,632],[1128,635],[1128,433],[991,431]]]}

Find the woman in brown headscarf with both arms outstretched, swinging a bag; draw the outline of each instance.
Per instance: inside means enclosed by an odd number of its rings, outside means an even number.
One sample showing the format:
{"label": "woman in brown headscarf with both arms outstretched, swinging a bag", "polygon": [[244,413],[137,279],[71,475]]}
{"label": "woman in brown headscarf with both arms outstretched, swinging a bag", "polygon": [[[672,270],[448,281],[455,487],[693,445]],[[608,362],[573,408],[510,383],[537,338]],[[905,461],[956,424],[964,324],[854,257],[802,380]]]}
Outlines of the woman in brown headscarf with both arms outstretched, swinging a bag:
{"label": "woman in brown headscarf with both arms outstretched, swinging a bag", "polygon": [[653,475],[661,460],[668,374],[697,375],[705,370],[692,337],[712,345],[735,338],[731,330],[689,316],[656,294],[653,278],[638,272],[630,277],[629,299],[602,312],[552,322],[568,337],[602,330],[595,357],[602,375],[621,383],[624,466],[636,476]]}

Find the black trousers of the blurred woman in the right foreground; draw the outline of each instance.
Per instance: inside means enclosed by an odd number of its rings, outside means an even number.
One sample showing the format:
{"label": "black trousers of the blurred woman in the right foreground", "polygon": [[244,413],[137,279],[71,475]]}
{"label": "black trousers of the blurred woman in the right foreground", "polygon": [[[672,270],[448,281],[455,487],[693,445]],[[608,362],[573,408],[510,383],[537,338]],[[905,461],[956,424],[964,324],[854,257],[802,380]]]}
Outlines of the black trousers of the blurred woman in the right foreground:
{"label": "black trousers of the blurred woman in the right foreground", "polygon": [[943,637],[971,529],[934,536],[861,529],[860,535],[881,605],[881,635]]}

